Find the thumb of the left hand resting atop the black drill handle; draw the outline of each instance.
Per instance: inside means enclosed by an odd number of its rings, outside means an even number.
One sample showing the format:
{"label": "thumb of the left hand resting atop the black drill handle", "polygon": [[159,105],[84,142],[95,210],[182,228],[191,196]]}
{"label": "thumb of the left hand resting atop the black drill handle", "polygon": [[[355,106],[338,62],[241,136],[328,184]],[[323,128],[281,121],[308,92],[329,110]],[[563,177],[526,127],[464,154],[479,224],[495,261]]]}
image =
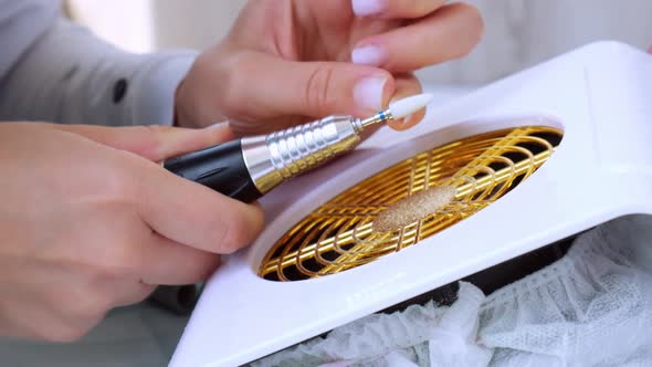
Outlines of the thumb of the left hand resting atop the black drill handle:
{"label": "thumb of the left hand resting atop the black drill handle", "polygon": [[53,125],[53,128],[81,135],[116,149],[132,151],[153,161],[161,161],[233,138],[233,133],[227,124],[202,129],[158,125],[129,127]]}

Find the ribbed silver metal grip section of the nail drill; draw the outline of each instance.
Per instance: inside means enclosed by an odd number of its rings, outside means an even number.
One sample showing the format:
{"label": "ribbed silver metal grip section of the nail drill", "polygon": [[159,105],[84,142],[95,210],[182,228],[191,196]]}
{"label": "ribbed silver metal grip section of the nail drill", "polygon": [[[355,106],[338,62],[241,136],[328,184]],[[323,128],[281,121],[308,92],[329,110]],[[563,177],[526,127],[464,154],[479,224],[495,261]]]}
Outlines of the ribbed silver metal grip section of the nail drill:
{"label": "ribbed silver metal grip section of the nail drill", "polygon": [[283,181],[353,149],[360,120],[329,116],[320,120],[242,139],[242,155],[256,188],[266,193]]}

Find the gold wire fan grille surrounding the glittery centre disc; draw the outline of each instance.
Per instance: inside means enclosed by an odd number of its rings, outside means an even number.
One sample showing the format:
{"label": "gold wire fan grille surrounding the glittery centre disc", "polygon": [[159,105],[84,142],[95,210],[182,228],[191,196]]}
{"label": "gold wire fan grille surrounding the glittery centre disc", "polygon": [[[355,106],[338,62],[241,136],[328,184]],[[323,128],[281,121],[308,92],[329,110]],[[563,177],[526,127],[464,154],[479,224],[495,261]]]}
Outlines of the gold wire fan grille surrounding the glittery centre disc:
{"label": "gold wire fan grille surrounding the glittery centre disc", "polygon": [[[418,154],[362,180],[306,216],[267,252],[259,275],[298,281],[339,273],[398,252],[487,207],[529,177],[561,141],[561,132],[528,126],[476,135]],[[375,232],[392,203],[435,186],[455,199],[421,220]]]}

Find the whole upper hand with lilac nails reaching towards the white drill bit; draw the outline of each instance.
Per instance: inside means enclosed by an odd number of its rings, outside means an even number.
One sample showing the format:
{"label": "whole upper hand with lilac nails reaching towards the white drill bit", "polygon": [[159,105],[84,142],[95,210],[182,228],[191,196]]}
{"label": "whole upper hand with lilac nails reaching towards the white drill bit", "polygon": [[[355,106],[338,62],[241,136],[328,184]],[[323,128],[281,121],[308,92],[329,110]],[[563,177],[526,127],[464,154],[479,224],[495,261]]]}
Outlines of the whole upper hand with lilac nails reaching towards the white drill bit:
{"label": "whole upper hand with lilac nails reaching towards the white drill bit", "polygon": [[[176,122],[238,135],[330,114],[367,117],[421,92],[413,72],[469,53],[477,10],[445,0],[250,0],[176,93]],[[390,123],[407,129],[423,112]]]}

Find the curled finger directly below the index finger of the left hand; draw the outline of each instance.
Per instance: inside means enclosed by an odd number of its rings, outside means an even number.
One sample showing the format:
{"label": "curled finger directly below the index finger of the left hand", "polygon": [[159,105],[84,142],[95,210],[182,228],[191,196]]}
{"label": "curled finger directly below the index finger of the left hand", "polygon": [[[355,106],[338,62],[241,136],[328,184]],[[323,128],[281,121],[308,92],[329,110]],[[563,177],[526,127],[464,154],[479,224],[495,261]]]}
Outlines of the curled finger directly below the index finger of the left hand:
{"label": "curled finger directly below the index finger of the left hand", "polygon": [[[186,285],[202,282],[218,269],[219,255],[180,244],[153,233],[143,249],[140,281],[149,285]],[[137,291],[137,290],[136,290]],[[143,293],[134,292],[134,296]]]}

